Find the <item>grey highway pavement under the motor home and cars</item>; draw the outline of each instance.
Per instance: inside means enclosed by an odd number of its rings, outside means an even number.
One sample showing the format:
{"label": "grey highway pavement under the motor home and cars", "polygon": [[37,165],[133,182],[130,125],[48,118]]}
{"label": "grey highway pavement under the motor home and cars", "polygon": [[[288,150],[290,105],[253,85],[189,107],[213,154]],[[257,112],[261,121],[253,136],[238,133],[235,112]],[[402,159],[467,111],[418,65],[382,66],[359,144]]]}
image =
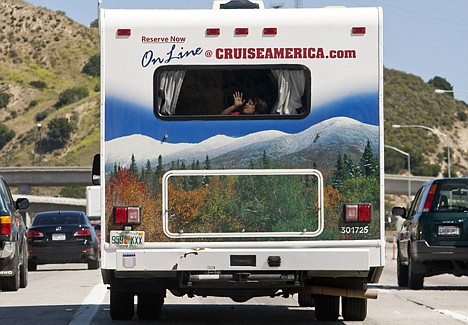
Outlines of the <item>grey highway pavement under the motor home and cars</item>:
{"label": "grey highway pavement under the motor home and cars", "polygon": [[[468,324],[468,277],[428,278],[425,289],[396,285],[396,261],[391,243],[386,268],[377,285],[377,300],[369,300],[361,324]],[[18,292],[0,293],[0,324],[134,324],[109,317],[109,293],[99,270],[85,264],[39,266],[29,285]],[[142,322],[147,323],[147,322]],[[227,298],[177,298],[168,295],[161,324],[320,324],[313,308],[298,307],[297,297],[255,298],[238,304]],[[354,324],[356,322],[328,322]]]}

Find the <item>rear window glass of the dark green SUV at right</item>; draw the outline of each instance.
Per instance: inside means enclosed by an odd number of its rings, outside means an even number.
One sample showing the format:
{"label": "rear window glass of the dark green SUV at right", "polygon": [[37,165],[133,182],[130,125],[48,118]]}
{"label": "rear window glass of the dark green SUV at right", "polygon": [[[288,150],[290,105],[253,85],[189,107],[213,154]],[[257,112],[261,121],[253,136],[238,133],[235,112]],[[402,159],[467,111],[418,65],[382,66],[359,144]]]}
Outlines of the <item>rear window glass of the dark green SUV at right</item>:
{"label": "rear window glass of the dark green SUV at right", "polygon": [[435,199],[434,211],[468,211],[468,184],[443,183]]}

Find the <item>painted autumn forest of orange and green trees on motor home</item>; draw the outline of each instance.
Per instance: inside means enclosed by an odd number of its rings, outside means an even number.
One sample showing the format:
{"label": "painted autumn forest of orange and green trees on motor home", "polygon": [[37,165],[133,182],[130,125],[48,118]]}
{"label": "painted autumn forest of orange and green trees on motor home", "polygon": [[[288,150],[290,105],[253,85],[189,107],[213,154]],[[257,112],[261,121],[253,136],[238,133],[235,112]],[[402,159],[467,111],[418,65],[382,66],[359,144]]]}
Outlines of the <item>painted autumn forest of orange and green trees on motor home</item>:
{"label": "painted autumn forest of orange and green trees on motor home", "polygon": [[[145,241],[179,241],[183,234],[197,234],[197,241],[239,241],[239,235],[258,236],[241,240],[285,240],[284,233],[313,232],[318,227],[317,178],[311,175],[215,175],[176,176],[167,182],[168,211],[162,212],[163,175],[168,170],[211,170],[209,157],[203,163],[171,162],[164,167],[162,157],[153,167],[150,161],[138,167],[132,155],[129,168],[114,165],[106,179],[107,231],[113,225],[112,207],[140,206],[142,223],[134,230],[145,231]],[[250,169],[284,168],[270,159],[252,161]],[[317,168],[317,166],[314,166]],[[324,230],[317,237],[293,240],[336,240],[379,238],[379,163],[368,141],[360,159],[339,154],[335,170],[324,180]],[[373,207],[369,232],[343,234],[345,203],[370,203]],[[167,218],[170,238],[163,231]],[[347,224],[347,226],[350,226]],[[351,225],[353,226],[353,225]],[[219,233],[216,238],[203,234]],[[277,233],[274,237],[262,233]],[[108,238],[108,237],[107,237]],[[193,239],[192,239],[193,240]]]}

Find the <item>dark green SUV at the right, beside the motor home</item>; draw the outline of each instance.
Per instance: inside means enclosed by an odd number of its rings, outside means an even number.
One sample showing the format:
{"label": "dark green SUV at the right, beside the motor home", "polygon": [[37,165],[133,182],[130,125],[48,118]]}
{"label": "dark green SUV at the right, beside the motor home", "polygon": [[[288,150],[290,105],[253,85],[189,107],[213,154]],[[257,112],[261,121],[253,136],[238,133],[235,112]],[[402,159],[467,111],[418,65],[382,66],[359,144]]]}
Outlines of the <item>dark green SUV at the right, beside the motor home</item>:
{"label": "dark green SUV at the right, beside the motor home", "polygon": [[409,209],[394,207],[404,220],[398,231],[398,286],[422,289],[424,278],[468,275],[468,178],[426,182]]}

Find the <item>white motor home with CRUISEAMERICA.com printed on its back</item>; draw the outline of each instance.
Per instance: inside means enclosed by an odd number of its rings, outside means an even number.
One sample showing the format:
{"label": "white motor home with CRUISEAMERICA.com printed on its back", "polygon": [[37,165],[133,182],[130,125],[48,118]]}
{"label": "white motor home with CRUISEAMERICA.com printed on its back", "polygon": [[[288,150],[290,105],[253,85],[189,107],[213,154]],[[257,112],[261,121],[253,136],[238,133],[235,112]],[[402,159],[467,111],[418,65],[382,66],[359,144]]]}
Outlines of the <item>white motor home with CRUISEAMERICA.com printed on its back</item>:
{"label": "white motor home with CRUISEAMERICA.com printed on its back", "polygon": [[111,317],[137,296],[157,319],[171,292],[365,319],[385,259],[382,10],[101,8],[100,31]]}

